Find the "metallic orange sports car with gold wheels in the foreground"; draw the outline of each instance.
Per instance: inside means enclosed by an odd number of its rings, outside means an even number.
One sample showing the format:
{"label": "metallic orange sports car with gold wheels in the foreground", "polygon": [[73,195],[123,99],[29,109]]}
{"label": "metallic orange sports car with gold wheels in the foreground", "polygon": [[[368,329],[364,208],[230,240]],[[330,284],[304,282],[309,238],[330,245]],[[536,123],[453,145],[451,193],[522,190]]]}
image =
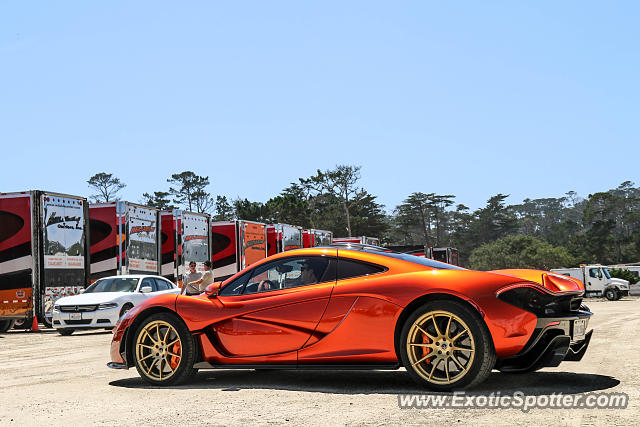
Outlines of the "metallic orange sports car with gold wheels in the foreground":
{"label": "metallic orange sports car with gold wheels in the foreground", "polygon": [[592,335],[577,279],[480,272],[367,245],[291,250],[198,296],[161,295],[121,318],[111,368],[154,385],[198,369],[406,368],[432,390],[492,369],[578,361]]}

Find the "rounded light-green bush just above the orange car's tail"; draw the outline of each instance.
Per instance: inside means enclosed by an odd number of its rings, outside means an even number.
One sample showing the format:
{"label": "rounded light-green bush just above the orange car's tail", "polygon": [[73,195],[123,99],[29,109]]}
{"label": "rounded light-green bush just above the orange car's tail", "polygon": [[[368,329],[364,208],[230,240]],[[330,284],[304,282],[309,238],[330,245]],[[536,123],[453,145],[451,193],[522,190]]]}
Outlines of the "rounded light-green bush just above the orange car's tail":
{"label": "rounded light-green bush just above the orange car's tail", "polygon": [[573,264],[566,248],[553,246],[533,236],[508,236],[475,249],[469,258],[471,268],[534,268],[550,270]]}

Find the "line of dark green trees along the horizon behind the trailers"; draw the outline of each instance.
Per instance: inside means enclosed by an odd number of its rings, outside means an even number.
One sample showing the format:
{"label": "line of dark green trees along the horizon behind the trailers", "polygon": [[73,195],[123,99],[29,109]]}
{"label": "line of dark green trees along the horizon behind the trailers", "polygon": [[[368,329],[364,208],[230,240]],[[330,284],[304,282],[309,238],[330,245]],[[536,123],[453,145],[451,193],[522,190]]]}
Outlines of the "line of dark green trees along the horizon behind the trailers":
{"label": "line of dark green trees along the horizon behind the trailers", "polygon": [[[144,193],[159,209],[210,213],[217,221],[245,219],[330,230],[334,236],[380,237],[384,245],[451,246],[463,266],[476,269],[557,268],[581,263],[640,261],[640,188],[625,181],[589,194],[508,205],[498,193],[471,210],[453,194],[413,192],[387,212],[360,185],[360,167],[338,165],[298,178],[266,202],[213,196],[209,177],[173,174],[167,188]],[[91,177],[95,201],[117,198],[124,183],[108,173]]]}

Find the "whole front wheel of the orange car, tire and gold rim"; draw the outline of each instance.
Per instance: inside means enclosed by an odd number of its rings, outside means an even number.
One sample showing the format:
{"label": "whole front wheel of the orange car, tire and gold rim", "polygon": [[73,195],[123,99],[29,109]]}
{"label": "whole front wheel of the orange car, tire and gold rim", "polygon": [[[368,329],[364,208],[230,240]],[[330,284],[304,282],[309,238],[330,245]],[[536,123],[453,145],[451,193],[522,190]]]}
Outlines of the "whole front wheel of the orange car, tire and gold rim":
{"label": "whole front wheel of the orange car, tire and gold rim", "polygon": [[134,336],[134,363],[153,385],[175,385],[194,374],[195,346],[185,324],[170,313],[144,319]]}

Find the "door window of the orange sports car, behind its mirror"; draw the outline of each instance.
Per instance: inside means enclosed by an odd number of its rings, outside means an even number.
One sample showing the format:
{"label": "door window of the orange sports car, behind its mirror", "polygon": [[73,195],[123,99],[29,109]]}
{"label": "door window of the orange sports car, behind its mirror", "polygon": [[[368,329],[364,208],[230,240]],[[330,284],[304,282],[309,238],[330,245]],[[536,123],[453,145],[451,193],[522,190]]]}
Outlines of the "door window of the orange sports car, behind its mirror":
{"label": "door window of the orange sports car, behind its mirror", "polygon": [[327,257],[285,258],[256,268],[245,294],[295,288],[335,280],[335,264]]}

